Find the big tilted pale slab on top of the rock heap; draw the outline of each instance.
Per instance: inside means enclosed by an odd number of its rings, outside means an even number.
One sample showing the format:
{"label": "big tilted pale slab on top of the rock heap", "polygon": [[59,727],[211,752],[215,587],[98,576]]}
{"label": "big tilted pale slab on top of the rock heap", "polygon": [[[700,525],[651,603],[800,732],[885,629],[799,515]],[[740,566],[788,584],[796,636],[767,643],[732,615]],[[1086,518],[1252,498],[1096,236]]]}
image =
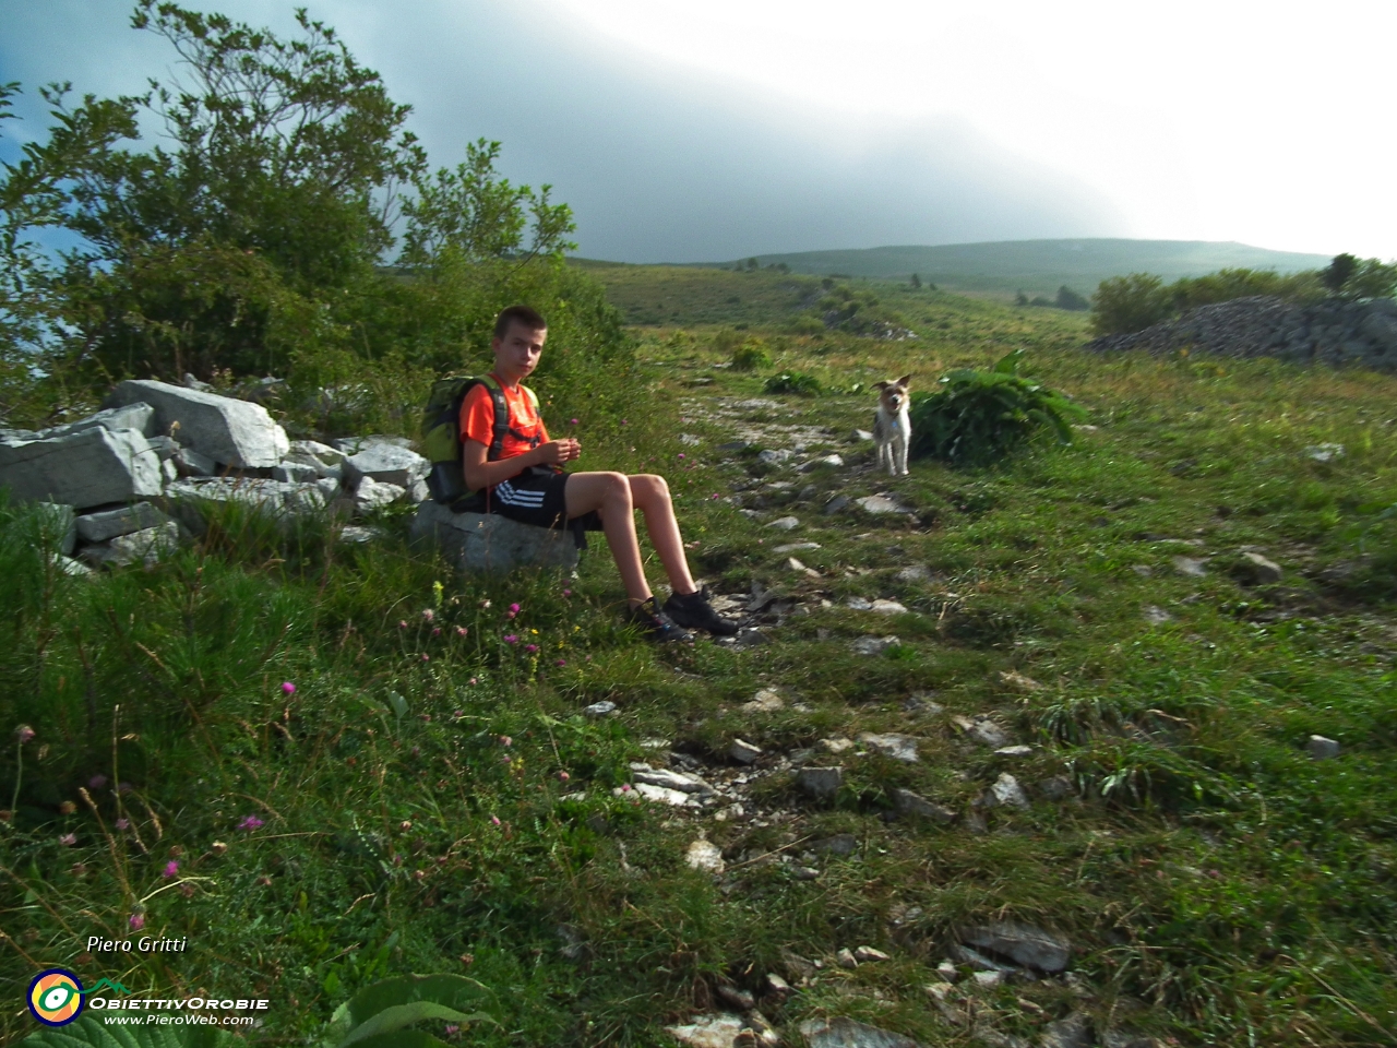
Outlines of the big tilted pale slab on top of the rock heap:
{"label": "big tilted pale slab on top of the rock heap", "polygon": [[119,383],[103,401],[113,408],[137,402],[155,409],[155,432],[173,436],[184,447],[222,465],[272,467],[291,450],[286,430],[260,404],[154,379]]}

